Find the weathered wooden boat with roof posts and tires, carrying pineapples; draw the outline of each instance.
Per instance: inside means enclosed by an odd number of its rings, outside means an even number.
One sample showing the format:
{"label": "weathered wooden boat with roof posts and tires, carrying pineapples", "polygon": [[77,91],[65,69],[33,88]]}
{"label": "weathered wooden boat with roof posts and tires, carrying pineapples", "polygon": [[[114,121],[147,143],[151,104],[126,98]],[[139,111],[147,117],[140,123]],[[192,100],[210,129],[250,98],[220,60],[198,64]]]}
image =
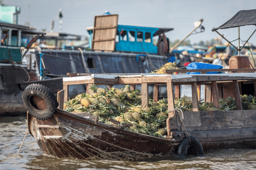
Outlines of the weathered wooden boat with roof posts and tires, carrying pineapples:
{"label": "weathered wooden boat with roof posts and tires, carrying pineapples", "polygon": [[[72,84],[130,84],[131,89],[141,84],[142,105],[148,106],[148,85],[153,84],[154,101],[158,101],[158,86],[167,86],[168,113],[167,133],[164,138],[132,132],[117,122],[107,125],[98,122],[89,113],[71,113],[56,108],[57,99],[50,89],[28,86],[23,101],[28,108],[28,128],[44,153],[57,157],[77,159],[138,160],[165,155],[171,152],[200,155],[212,149],[256,148],[255,110],[242,110],[239,90],[243,84],[256,83],[256,69],[203,69],[196,71],[254,71],[253,73],[224,74],[93,74],[63,78],[63,91],[59,92],[59,108],[67,100],[68,87]],[[177,70],[166,70],[167,73]],[[179,70],[187,72],[188,70]],[[206,84],[205,100],[212,100],[219,108],[219,91],[227,91],[230,84],[236,101],[235,111],[199,111],[197,87]],[[179,112],[174,97],[179,96],[182,84],[192,89],[192,112]],[[175,87],[175,93],[173,87]],[[221,89],[218,90],[218,87]],[[255,89],[250,89],[255,93]],[[31,94],[33,91],[33,94]],[[41,93],[40,93],[41,91]],[[90,93],[88,90],[87,93]],[[200,93],[199,93],[200,94]],[[223,97],[223,96],[220,96]],[[32,116],[33,115],[33,116]],[[49,118],[49,119],[48,119]],[[119,125],[118,125],[119,124]]]}

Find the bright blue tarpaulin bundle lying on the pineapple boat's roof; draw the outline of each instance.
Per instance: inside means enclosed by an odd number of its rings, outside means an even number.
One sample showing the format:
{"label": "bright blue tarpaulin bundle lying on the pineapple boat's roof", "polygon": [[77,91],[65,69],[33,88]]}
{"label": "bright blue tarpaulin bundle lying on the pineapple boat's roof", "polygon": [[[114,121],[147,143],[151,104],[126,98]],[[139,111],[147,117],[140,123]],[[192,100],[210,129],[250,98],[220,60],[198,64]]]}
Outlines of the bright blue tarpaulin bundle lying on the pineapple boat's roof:
{"label": "bright blue tarpaulin bundle lying on the pineapple boat's roof", "polygon": [[[192,62],[188,64],[187,70],[197,70],[197,69],[222,69],[221,65],[208,64],[203,62]],[[217,74],[222,72],[206,72],[207,74]],[[200,72],[187,72],[187,74],[200,74]]]}

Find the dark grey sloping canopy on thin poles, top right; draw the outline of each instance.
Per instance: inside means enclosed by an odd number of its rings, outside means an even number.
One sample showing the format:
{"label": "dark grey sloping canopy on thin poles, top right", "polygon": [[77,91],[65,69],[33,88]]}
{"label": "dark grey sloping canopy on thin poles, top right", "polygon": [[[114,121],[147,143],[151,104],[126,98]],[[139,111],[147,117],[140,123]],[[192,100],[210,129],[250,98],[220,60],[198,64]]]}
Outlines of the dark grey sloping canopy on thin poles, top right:
{"label": "dark grey sloping canopy on thin poles, top right", "polygon": [[256,25],[256,9],[242,10],[236,13],[230,20],[219,26],[213,28],[212,31],[218,29],[234,28],[245,25]]}

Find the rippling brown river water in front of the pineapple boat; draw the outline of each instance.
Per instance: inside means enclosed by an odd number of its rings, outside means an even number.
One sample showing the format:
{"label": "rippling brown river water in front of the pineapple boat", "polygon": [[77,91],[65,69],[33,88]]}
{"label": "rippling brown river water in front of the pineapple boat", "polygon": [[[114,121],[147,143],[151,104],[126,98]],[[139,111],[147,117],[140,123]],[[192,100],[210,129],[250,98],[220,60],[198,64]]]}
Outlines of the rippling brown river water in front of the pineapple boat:
{"label": "rippling brown river water in front of the pineapple boat", "polygon": [[136,169],[256,169],[255,149],[225,149],[205,152],[203,156],[180,157],[176,154],[136,162],[109,160],[57,159],[45,155],[28,134],[25,116],[0,117],[0,169],[3,170],[136,170]]}

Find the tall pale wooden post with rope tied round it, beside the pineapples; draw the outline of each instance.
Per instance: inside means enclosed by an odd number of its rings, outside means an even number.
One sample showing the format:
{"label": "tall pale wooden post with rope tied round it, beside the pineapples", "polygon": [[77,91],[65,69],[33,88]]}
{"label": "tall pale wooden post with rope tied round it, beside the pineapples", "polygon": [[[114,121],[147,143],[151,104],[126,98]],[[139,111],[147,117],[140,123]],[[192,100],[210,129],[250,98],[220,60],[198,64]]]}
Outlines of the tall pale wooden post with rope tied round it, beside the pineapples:
{"label": "tall pale wooden post with rope tied round it, beside the pineapples", "polygon": [[[168,100],[168,110],[174,109],[174,98],[173,98],[173,85],[172,82],[167,82],[167,100]],[[174,116],[175,112],[168,112],[168,118],[166,119],[167,135],[172,135],[170,128],[170,120]]]}

